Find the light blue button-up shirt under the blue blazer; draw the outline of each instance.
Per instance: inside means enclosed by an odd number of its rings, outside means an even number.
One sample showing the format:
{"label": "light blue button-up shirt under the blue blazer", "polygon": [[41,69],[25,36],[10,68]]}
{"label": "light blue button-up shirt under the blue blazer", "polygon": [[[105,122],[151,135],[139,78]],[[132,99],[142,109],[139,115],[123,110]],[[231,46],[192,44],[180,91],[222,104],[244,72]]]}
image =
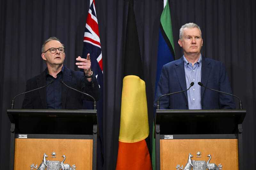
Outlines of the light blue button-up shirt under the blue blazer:
{"label": "light blue button-up shirt under the blue blazer", "polygon": [[184,69],[186,77],[187,89],[191,82],[195,84],[187,91],[188,94],[188,109],[202,109],[201,106],[201,86],[198,82],[201,82],[201,68],[202,68],[202,55],[200,55],[198,61],[192,66],[192,63],[188,63],[188,60],[183,55]]}

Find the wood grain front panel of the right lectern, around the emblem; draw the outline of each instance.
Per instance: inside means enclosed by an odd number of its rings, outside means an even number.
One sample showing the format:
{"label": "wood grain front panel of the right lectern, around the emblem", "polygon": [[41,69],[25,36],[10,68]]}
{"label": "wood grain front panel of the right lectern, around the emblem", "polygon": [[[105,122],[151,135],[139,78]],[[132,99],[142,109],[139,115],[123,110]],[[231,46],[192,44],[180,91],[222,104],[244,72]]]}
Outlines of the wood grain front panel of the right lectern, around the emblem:
{"label": "wood grain front panel of the right lectern, around the emblem", "polygon": [[[210,154],[210,163],[217,166],[221,163],[223,170],[238,170],[237,149],[237,139],[161,139],[160,166],[161,170],[176,170],[178,164],[184,167],[188,163],[188,154],[191,153],[192,160],[207,162],[207,155]],[[196,158],[197,152],[202,153],[201,158]]]}

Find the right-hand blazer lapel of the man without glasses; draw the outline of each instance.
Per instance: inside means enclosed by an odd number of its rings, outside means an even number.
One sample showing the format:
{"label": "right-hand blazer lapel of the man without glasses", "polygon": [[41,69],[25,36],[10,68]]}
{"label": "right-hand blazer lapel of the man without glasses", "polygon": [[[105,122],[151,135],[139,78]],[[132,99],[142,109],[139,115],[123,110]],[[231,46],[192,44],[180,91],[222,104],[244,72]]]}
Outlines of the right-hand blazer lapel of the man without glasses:
{"label": "right-hand blazer lapel of the man without glasses", "polygon": [[[212,67],[211,67],[211,62],[207,60],[207,58],[202,56],[202,75],[201,75],[201,82],[207,86],[208,78],[211,73]],[[201,100],[203,99],[204,95],[204,87],[201,87]]]}

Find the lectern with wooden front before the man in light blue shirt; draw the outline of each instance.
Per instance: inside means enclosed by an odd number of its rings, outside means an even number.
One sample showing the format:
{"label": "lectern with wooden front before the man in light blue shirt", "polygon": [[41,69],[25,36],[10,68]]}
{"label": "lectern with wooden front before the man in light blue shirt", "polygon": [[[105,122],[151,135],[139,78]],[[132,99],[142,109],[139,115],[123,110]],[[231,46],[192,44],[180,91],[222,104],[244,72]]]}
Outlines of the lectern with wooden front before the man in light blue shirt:
{"label": "lectern with wooden front before the man in light blue shirt", "polygon": [[246,110],[156,110],[156,169],[242,170],[245,114]]}

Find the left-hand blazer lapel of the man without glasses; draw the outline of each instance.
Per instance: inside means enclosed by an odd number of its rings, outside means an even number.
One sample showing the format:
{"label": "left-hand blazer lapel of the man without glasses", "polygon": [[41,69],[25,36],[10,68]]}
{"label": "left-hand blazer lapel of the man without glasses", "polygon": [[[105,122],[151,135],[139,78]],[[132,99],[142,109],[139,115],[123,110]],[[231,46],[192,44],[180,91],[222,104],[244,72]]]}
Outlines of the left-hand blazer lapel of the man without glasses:
{"label": "left-hand blazer lapel of the man without glasses", "polygon": [[[182,90],[186,90],[187,89],[187,85],[186,85],[186,77],[185,77],[185,69],[184,69],[184,59],[183,56],[177,60],[177,62],[175,63],[176,67],[175,71],[176,71],[176,75],[178,78],[178,81],[180,83],[180,87]],[[188,102],[188,93],[187,92],[183,92],[187,102]]]}

